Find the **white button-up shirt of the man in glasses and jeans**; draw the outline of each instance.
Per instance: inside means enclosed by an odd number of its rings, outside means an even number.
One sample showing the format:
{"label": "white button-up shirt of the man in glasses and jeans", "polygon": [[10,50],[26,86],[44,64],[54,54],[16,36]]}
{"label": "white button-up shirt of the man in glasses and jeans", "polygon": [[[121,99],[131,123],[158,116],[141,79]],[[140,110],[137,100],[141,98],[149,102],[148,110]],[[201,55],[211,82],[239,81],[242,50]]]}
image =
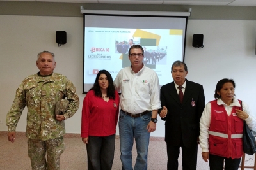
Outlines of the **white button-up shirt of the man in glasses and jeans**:
{"label": "white button-up shirt of the man in glasses and jeans", "polygon": [[131,66],[121,69],[114,84],[121,92],[120,107],[129,113],[142,113],[146,110],[158,110],[160,103],[160,85],[156,72],[146,66],[134,73]]}

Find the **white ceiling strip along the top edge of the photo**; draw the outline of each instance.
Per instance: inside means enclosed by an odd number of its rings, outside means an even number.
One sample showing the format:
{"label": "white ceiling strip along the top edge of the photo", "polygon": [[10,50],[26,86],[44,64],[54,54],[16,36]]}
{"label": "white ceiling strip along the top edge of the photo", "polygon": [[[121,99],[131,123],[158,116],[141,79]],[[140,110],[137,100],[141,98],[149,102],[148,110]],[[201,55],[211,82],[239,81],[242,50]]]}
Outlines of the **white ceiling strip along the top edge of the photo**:
{"label": "white ceiling strip along the top edge of the photo", "polygon": [[[0,1],[3,1],[3,0],[0,0]],[[256,6],[256,0],[4,0],[4,1],[38,1],[38,2],[58,2],[58,3]]]}

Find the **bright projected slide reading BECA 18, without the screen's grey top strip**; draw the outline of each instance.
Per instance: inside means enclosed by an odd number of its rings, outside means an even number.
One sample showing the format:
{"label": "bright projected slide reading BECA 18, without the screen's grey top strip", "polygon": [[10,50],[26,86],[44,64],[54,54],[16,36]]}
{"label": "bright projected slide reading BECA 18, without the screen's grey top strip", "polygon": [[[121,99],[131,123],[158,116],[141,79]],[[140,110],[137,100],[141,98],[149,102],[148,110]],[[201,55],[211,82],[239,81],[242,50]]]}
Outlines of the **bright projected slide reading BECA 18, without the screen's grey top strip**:
{"label": "bright projected slide reading BECA 18, without the screen's grey top strip", "polygon": [[156,71],[160,85],[170,83],[173,62],[183,60],[185,30],[84,27],[84,92],[101,69],[115,80],[121,69],[131,66],[128,52],[132,45],[143,47],[143,63]]}

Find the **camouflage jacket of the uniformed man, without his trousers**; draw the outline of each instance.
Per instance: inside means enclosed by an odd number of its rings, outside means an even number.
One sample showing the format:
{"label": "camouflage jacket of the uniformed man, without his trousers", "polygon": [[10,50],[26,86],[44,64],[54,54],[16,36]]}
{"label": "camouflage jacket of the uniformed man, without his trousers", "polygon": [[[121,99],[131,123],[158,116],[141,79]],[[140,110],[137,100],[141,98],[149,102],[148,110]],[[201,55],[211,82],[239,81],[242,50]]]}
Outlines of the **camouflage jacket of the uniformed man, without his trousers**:
{"label": "camouflage jacket of the uniformed man, without his trousers", "polygon": [[45,141],[63,136],[65,123],[55,119],[56,103],[63,97],[67,97],[69,101],[67,111],[63,114],[67,120],[79,108],[79,97],[73,83],[58,73],[52,73],[51,76],[28,76],[17,89],[12,107],[7,114],[8,132],[15,131],[22,111],[27,106],[28,138]]}

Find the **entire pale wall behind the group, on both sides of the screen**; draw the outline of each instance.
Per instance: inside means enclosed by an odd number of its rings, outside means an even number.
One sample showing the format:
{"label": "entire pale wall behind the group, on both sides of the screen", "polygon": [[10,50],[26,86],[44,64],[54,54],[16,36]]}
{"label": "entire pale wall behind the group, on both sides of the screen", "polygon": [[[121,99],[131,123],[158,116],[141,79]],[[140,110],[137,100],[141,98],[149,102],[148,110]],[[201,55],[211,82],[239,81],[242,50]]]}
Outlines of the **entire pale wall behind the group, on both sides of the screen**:
{"label": "entire pale wall behind the group, on both sides of the screen", "polygon": [[[0,15],[0,131],[6,131],[6,113],[12,105],[21,81],[38,71],[36,55],[49,50],[56,55],[57,73],[66,75],[77,87],[82,106],[83,17],[40,17]],[[217,81],[234,78],[236,96],[256,112],[253,97],[256,83],[256,21],[188,20],[185,62],[188,80],[204,85],[205,101],[213,99]],[[56,31],[67,32],[67,44],[57,46]],[[193,34],[204,34],[204,48],[192,47]],[[168,77],[172,81],[172,77]],[[66,121],[67,133],[80,133],[81,107]],[[160,118],[159,118],[160,119]],[[26,109],[17,131],[26,129]],[[118,134],[118,129],[117,129]],[[164,122],[159,120],[151,136],[164,136]]]}

